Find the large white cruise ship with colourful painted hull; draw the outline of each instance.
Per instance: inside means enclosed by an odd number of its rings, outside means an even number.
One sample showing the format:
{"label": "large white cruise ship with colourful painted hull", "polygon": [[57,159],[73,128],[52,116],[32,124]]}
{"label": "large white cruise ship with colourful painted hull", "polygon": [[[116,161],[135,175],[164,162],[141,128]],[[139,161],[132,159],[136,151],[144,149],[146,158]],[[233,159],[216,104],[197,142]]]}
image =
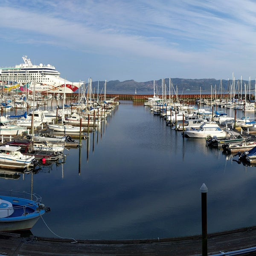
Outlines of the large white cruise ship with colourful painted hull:
{"label": "large white cruise ship with colourful painted hull", "polygon": [[50,64],[33,65],[26,55],[22,58],[24,63],[15,67],[0,67],[0,82],[8,91],[19,87],[21,91],[35,88],[35,92],[41,93],[73,93],[83,84],[61,78]]}

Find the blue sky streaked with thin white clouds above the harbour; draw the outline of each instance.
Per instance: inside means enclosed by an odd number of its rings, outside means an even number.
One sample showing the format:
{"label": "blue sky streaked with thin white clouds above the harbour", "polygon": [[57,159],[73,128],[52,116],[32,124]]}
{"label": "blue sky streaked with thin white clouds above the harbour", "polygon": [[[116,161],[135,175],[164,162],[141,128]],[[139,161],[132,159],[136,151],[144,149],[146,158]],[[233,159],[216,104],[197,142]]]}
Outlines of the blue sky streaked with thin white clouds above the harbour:
{"label": "blue sky streaked with thin white clouds above the harbour", "polygon": [[256,1],[1,0],[0,67],[69,81],[256,78]]}

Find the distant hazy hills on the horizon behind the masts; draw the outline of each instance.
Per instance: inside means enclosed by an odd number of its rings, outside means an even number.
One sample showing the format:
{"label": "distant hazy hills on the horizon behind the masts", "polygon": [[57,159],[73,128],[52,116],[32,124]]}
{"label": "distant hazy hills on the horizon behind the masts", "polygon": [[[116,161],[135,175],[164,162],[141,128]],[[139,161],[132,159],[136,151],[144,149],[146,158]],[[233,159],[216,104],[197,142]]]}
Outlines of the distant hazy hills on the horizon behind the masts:
{"label": "distant hazy hills on the horizon behind the masts", "polygon": [[[166,89],[169,91],[169,79],[164,79],[166,84]],[[93,81],[92,88],[95,93],[98,91],[98,83],[99,83],[99,93],[104,92],[105,81]],[[228,91],[230,90],[230,85],[233,83],[232,80],[216,80],[216,79],[181,79],[181,78],[172,78],[171,79],[171,90],[178,90],[178,93],[182,93],[183,91],[209,91],[220,93],[221,90]],[[242,88],[241,81],[236,80],[235,90],[244,90],[244,83],[249,84],[248,81],[242,80]],[[239,87],[239,88],[238,88]],[[251,90],[254,90],[255,82],[251,81]],[[107,81],[106,93],[134,93],[135,89],[137,93],[154,93],[154,81],[146,81],[146,82],[137,82],[134,80],[127,81]],[[155,93],[162,92],[162,79],[155,81]]]}

